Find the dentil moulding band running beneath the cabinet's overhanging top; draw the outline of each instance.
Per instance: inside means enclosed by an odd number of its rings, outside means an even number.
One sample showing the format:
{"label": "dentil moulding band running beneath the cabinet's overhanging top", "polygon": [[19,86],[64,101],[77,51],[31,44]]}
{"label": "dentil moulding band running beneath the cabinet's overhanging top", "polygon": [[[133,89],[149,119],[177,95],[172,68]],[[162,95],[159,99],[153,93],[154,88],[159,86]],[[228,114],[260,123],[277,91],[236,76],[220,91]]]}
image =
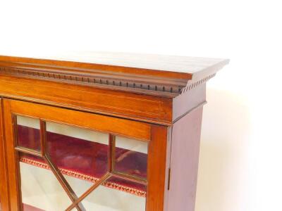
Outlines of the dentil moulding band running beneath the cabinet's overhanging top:
{"label": "dentil moulding band running beneath the cabinet's overhanging top", "polygon": [[102,89],[114,89],[120,91],[131,91],[139,94],[154,96],[176,97],[197,85],[207,82],[216,75],[215,73],[197,82],[164,82],[164,79],[155,79],[156,82],[145,82],[145,79],[134,79],[133,77],[110,77],[109,75],[83,75],[71,72],[54,72],[48,70],[28,70],[24,68],[9,68],[0,66],[0,74],[16,77],[44,79],[68,84],[81,84]]}

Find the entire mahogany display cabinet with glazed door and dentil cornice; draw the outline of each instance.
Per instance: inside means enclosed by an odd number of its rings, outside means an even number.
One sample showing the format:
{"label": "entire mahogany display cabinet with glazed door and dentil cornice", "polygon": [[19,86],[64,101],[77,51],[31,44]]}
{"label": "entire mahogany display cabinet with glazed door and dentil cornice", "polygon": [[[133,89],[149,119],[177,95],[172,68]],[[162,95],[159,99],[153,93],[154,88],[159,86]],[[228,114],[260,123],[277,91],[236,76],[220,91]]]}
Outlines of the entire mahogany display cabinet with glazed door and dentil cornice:
{"label": "entire mahogany display cabinet with glazed door and dentil cornice", "polygon": [[0,56],[2,211],[193,211],[224,59]]}

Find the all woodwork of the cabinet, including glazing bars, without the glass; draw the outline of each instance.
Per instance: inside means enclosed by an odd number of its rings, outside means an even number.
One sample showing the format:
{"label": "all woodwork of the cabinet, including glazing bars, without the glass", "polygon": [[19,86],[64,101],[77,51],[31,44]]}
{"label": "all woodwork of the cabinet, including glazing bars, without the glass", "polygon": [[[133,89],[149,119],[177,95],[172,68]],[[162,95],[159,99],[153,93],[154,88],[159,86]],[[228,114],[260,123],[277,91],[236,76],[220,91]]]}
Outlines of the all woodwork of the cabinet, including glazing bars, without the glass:
{"label": "all woodwork of the cabinet, including glazing bars, without the glass", "polygon": [[0,56],[2,210],[23,210],[18,152],[44,157],[44,143],[41,152],[16,147],[13,124],[16,115],[25,115],[40,119],[42,131],[44,121],[51,121],[108,133],[109,152],[115,135],[149,144],[147,181],[115,172],[112,154],[107,174],[78,197],[54,167],[74,202],[67,210],[84,210],[83,198],[115,175],[147,185],[146,211],[194,211],[206,83],[227,63],[127,53]]}

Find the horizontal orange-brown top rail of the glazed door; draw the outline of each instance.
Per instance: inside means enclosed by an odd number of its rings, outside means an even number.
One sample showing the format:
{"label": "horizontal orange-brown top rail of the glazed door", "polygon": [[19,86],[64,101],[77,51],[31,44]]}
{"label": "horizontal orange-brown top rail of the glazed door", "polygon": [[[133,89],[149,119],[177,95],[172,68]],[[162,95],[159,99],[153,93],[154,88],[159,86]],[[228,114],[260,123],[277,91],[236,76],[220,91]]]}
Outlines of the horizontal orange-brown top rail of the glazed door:
{"label": "horizontal orange-brown top rail of the glazed door", "polygon": [[9,111],[15,115],[36,117],[47,122],[58,122],[85,129],[94,129],[98,132],[126,136],[128,138],[140,139],[141,141],[149,141],[151,139],[151,126],[147,123],[92,113],[82,113],[76,110],[56,108],[54,106],[45,106],[36,103],[15,100],[4,101],[8,101]]}

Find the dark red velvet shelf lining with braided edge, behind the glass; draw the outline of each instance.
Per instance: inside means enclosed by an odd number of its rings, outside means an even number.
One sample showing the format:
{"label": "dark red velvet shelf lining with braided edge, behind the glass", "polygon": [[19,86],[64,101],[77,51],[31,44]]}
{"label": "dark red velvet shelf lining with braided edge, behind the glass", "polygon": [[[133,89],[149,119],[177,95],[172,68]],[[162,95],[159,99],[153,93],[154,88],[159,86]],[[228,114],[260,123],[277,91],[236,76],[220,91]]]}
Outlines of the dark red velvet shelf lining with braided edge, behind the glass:
{"label": "dark red velvet shelf lining with braided edge, behind the glass", "polygon": [[[38,132],[39,129],[18,125],[18,143],[21,146],[38,148]],[[97,181],[108,171],[108,153],[108,145],[47,132],[47,154],[51,162],[68,176],[91,182]],[[20,160],[49,169],[42,158],[34,155],[20,153]],[[147,154],[116,148],[116,160],[117,171],[147,177]],[[124,179],[111,178],[104,186],[137,196],[146,195],[145,185]]]}

